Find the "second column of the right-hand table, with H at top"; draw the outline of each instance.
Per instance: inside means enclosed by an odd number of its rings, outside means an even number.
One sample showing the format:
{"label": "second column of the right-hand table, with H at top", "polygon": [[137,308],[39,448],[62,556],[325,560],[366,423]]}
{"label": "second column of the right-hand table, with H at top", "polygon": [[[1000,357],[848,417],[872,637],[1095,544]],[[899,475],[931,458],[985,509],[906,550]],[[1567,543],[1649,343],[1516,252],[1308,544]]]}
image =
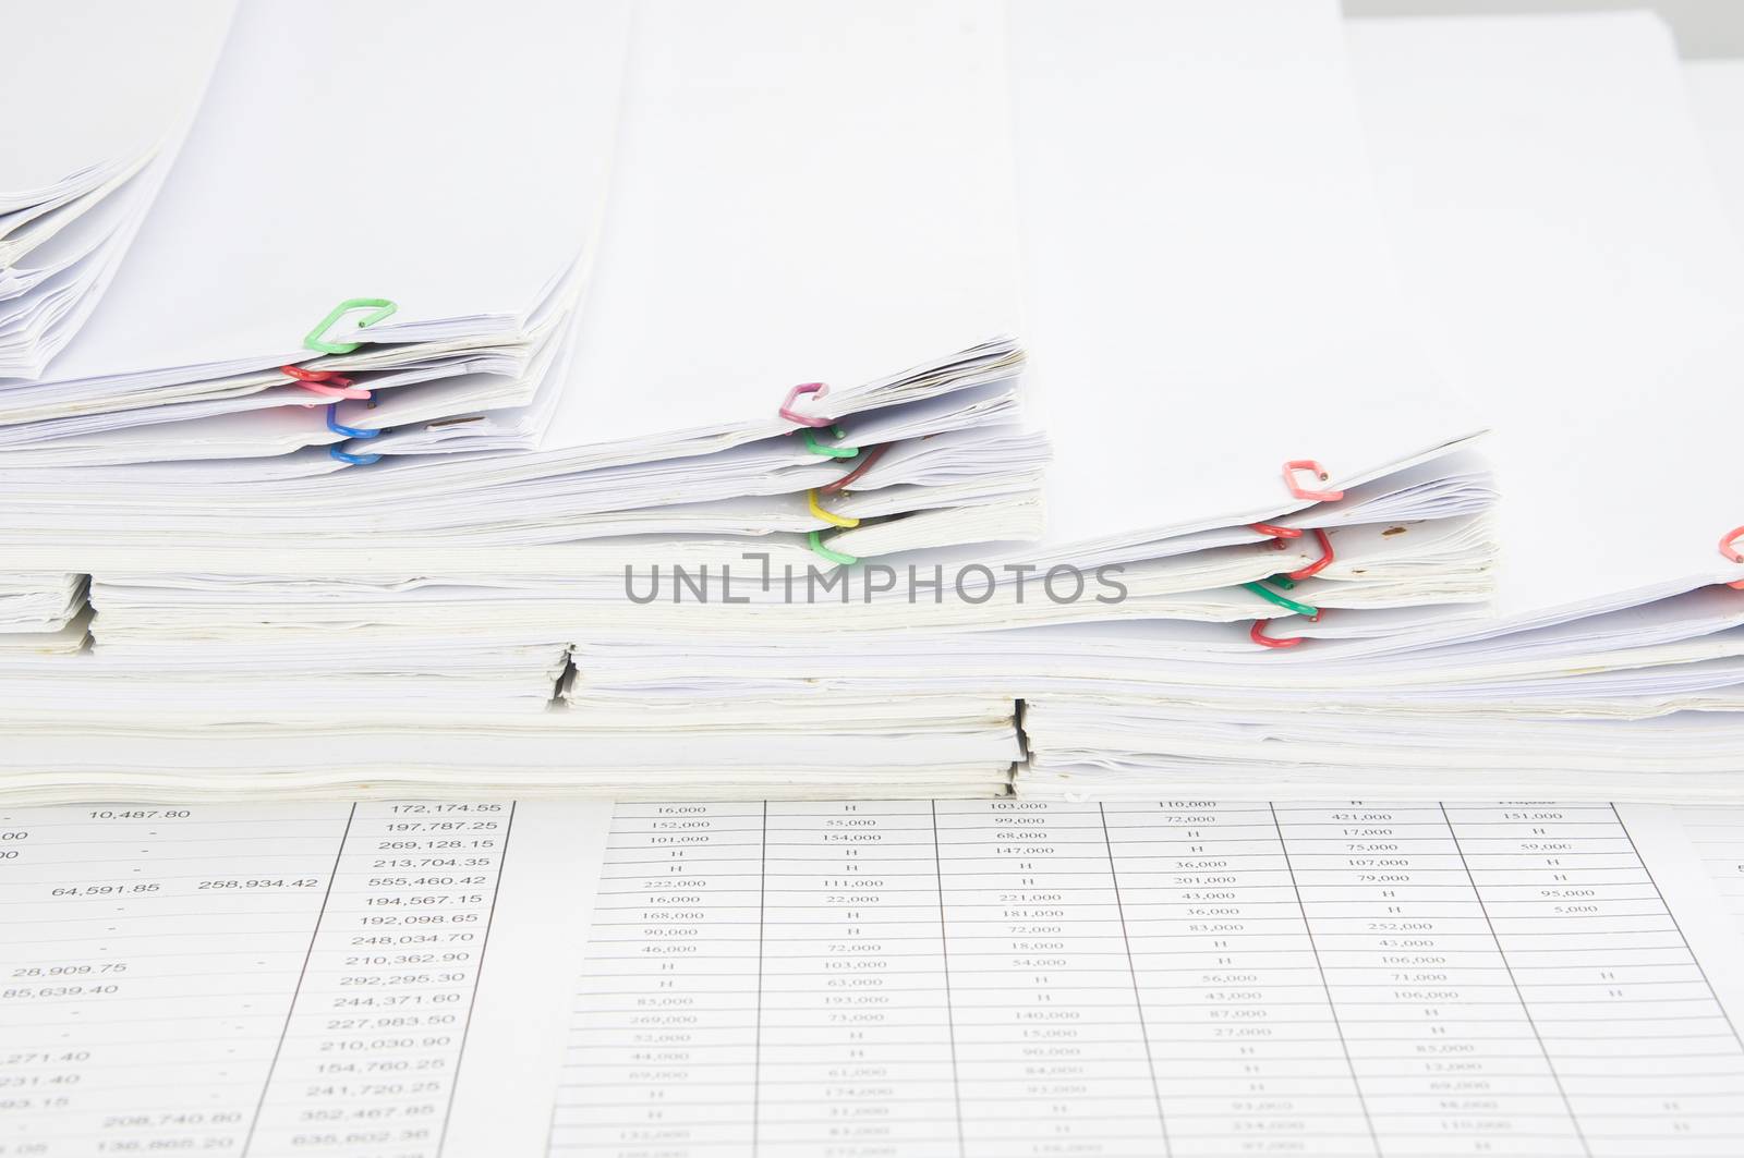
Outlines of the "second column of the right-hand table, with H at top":
{"label": "second column of the right-hand table, with H at top", "polygon": [[757,1153],[957,1155],[926,800],[769,804]]}

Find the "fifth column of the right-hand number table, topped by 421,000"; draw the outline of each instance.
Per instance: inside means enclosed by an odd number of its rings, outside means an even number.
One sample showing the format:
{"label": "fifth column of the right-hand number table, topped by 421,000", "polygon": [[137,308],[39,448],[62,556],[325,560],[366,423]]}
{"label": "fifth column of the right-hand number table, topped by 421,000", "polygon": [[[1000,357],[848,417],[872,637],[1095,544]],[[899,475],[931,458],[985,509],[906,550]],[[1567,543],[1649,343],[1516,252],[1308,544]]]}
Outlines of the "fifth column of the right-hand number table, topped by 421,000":
{"label": "fifth column of the right-hand number table, topped by 421,000", "polygon": [[1435,804],[1277,806],[1385,1155],[1580,1155]]}

